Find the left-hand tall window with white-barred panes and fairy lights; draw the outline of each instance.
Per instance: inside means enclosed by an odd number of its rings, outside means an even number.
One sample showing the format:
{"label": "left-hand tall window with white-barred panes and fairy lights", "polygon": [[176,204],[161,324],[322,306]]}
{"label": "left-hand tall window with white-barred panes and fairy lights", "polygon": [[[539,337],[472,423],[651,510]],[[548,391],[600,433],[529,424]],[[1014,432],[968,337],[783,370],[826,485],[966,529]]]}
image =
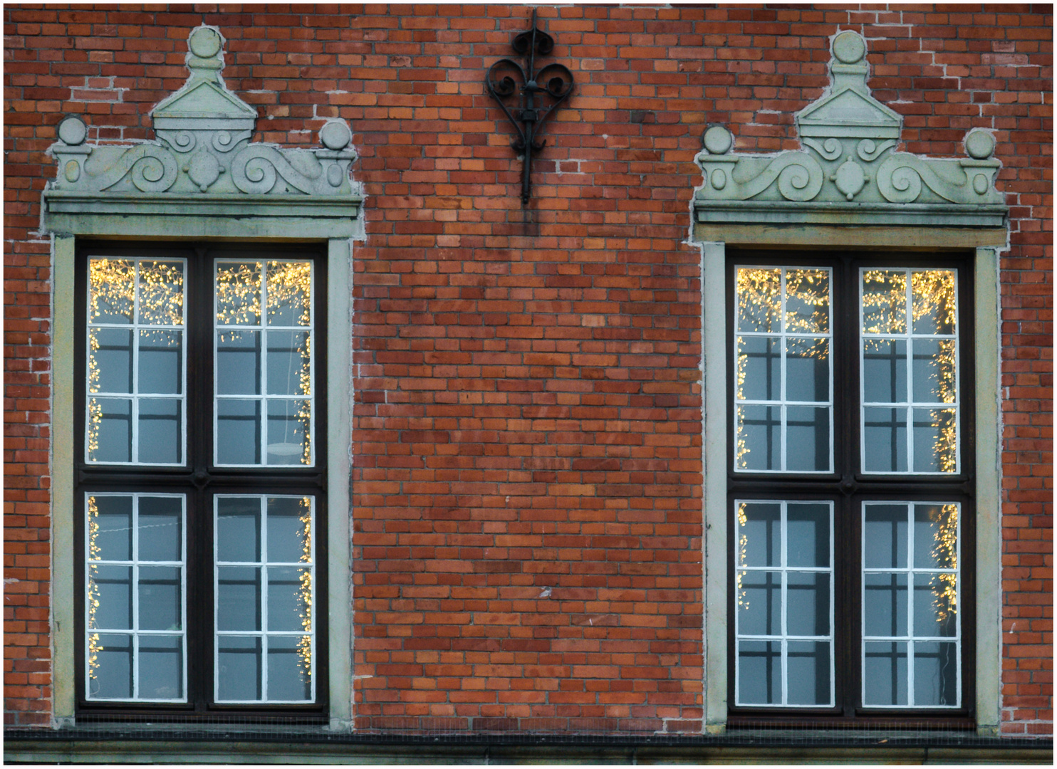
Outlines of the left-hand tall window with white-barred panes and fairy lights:
{"label": "left-hand tall window with white-barred panes and fairy lights", "polygon": [[324,701],[324,260],[82,245],[82,709]]}

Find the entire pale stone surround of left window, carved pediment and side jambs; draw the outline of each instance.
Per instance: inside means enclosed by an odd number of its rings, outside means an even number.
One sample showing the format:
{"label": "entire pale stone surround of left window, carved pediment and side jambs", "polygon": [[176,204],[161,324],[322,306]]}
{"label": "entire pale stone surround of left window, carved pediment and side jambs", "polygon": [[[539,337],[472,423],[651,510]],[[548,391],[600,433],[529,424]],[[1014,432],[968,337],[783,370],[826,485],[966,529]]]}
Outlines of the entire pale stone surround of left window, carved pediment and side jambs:
{"label": "entire pale stone surround of left window, carved pediment and side jambs", "polygon": [[[53,723],[76,708],[74,613],[74,290],[78,238],[135,241],[327,243],[327,463],[329,716],[351,728],[352,242],[364,239],[363,194],[349,179],[356,154],[341,120],[322,149],[249,142],[257,113],[227,91],[224,38],[202,25],[188,38],[190,77],[151,111],[157,140],[86,143],[78,117],[59,124],[49,152],[59,175],[43,194],[52,239],[52,687]],[[346,393],[341,397],[341,393]]]}

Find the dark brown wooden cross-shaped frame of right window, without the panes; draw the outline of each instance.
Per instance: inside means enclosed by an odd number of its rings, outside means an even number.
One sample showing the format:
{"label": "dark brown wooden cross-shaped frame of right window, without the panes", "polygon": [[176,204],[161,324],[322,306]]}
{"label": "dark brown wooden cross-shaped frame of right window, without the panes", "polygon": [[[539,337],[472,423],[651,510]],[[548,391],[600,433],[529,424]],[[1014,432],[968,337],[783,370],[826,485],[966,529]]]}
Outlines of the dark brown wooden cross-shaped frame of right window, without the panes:
{"label": "dark brown wooden cross-shaped frame of right window, without the panes", "polygon": [[[735,472],[735,378],[737,372],[734,345],[735,266],[832,267],[833,287],[833,372],[834,372],[834,455],[833,473],[781,474]],[[882,475],[859,471],[859,361],[857,344],[858,269],[859,267],[947,267],[958,270],[959,292],[959,445],[960,472],[938,475]],[[727,725],[731,728],[768,726],[772,728],[823,728],[827,726],[859,727],[913,725],[924,728],[972,729],[976,727],[976,361],[973,348],[973,254],[893,252],[884,250],[754,250],[729,248],[726,251],[726,355],[729,367],[726,388],[726,475],[727,520],[730,531],[737,531],[735,500],[750,495],[758,500],[818,500],[834,503],[834,654],[835,706],[811,708],[790,706],[738,706],[735,699],[737,638],[733,619],[727,622]],[[920,479],[920,480],[915,480]],[[961,584],[959,606],[961,616],[961,692],[959,708],[866,708],[861,704],[861,660],[858,652],[861,636],[861,564],[858,543],[861,541],[861,503],[864,501],[944,501],[962,505]],[[841,543],[854,543],[841,547]],[[727,547],[727,616],[736,611],[736,566],[734,547]]]}

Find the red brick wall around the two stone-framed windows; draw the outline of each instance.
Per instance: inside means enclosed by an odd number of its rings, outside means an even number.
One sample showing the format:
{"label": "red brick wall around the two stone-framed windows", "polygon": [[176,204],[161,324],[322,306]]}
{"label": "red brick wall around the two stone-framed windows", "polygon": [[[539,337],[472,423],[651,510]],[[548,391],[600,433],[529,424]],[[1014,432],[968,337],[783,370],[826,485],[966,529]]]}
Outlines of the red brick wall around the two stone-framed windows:
{"label": "red brick wall around the two stone-framed windows", "polygon": [[1003,731],[1050,732],[1052,6],[541,7],[577,90],[527,209],[483,86],[525,7],[180,7],[4,8],[6,724],[51,712],[44,150],[67,113],[90,139],[149,138],[207,23],[256,139],[314,144],[339,116],[361,154],[359,727],[700,729],[692,158],[710,123],[741,151],[794,148],[829,38],[853,29],[906,150],[961,155],[975,126],[998,138]]}

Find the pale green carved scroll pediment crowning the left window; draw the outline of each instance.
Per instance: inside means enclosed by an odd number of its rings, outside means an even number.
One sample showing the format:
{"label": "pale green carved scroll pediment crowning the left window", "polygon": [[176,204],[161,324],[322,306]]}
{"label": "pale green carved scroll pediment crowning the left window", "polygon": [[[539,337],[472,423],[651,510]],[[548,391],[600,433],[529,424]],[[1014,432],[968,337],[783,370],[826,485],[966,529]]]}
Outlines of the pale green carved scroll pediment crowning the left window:
{"label": "pale green carved scroll pediment crowning the left window", "polygon": [[221,78],[224,39],[212,26],[188,38],[190,77],[151,110],[156,140],[134,146],[86,144],[79,117],[59,124],[50,148],[59,173],[45,205],[64,198],[136,195],[308,195],[333,200],[352,195],[349,168],[356,157],[352,131],[332,119],[319,131],[322,149],[251,144],[257,111],[233,94]]}

